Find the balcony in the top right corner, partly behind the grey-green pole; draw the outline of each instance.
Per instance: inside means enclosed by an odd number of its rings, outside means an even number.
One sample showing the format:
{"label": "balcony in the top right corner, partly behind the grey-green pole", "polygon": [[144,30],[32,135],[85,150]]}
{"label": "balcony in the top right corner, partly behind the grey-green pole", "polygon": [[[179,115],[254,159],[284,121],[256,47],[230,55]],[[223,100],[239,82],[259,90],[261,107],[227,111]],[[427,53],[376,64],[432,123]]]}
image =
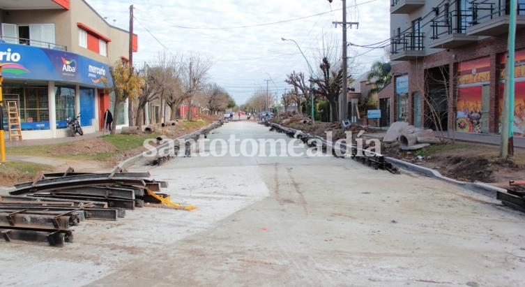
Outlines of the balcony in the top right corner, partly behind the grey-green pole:
{"label": "balcony in the top right corner, partly behind the grey-green pole", "polygon": [[[466,29],[470,36],[499,36],[508,33],[510,8],[505,1],[474,1],[472,22]],[[525,3],[518,3],[516,29],[525,28]]]}

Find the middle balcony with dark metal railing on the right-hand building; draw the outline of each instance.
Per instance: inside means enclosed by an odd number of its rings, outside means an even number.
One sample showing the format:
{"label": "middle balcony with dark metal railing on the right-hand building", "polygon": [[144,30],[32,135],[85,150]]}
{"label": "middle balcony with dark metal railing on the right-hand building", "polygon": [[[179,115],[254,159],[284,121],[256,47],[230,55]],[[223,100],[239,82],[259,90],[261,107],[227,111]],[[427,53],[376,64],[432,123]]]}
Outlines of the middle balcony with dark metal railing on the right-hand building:
{"label": "middle balcony with dark metal railing on the right-hand building", "polygon": [[472,17],[471,13],[471,10],[455,10],[434,18],[430,24],[432,40],[429,41],[428,47],[455,48],[478,41],[478,36],[465,34],[469,25],[467,20]]}

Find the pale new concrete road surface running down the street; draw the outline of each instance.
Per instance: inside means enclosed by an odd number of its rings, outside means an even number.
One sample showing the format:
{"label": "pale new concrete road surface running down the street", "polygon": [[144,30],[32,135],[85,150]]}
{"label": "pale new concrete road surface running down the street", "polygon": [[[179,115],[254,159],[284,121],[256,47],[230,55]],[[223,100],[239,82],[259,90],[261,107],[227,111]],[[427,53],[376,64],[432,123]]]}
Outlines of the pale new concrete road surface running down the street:
{"label": "pale new concrete road surface running down the street", "polygon": [[[208,138],[231,134],[291,140],[252,122]],[[525,216],[436,179],[331,156],[192,156],[131,169],[149,169],[172,200],[198,209],[84,221],[62,249],[0,244],[1,285],[525,284]]]}

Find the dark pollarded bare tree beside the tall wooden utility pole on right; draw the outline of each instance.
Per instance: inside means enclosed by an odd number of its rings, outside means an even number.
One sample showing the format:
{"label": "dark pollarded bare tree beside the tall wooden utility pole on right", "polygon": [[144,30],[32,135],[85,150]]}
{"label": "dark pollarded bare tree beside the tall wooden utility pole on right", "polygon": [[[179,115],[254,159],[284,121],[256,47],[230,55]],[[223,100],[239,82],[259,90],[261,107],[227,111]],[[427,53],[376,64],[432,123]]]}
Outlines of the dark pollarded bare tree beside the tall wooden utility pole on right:
{"label": "dark pollarded bare tree beside the tall wooden utility pole on right", "polygon": [[333,71],[328,58],[323,58],[319,65],[322,72],[322,78],[314,78],[311,81],[317,84],[314,88],[314,94],[318,94],[328,100],[330,103],[330,122],[336,122],[338,119],[337,101],[342,89],[342,69]]}

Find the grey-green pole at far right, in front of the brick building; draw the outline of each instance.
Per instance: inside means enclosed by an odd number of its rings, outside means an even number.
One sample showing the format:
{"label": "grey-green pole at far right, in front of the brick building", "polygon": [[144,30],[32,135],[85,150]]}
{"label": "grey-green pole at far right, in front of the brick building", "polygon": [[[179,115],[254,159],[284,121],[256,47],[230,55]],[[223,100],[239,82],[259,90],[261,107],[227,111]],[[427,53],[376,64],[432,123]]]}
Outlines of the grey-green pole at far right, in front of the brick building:
{"label": "grey-green pole at far right, in front of the brick building", "polygon": [[510,0],[507,59],[505,61],[505,94],[501,115],[501,158],[514,156],[514,70],[516,43],[517,0]]}

